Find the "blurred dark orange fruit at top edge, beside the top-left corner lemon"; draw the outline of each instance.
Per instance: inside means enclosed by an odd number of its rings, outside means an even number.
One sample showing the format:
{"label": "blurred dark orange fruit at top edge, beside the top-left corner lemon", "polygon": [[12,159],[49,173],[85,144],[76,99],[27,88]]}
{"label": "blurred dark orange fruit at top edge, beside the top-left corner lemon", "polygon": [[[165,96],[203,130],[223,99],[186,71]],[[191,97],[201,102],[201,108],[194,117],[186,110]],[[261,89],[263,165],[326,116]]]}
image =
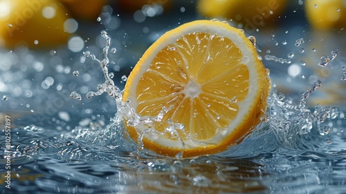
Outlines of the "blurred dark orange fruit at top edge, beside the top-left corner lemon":
{"label": "blurred dark orange fruit at top edge, beside the top-left corner lemon", "polygon": [[75,19],[96,21],[106,0],[60,0]]}

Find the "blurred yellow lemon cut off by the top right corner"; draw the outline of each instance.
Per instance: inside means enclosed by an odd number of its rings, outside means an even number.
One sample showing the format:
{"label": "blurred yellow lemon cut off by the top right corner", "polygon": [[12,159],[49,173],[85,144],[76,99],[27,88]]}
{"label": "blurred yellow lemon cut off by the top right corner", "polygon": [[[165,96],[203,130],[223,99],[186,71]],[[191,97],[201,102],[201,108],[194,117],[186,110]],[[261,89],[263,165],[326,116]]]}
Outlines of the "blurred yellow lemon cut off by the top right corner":
{"label": "blurred yellow lemon cut off by the top right corner", "polygon": [[313,28],[331,30],[346,27],[345,0],[305,1],[307,19]]}

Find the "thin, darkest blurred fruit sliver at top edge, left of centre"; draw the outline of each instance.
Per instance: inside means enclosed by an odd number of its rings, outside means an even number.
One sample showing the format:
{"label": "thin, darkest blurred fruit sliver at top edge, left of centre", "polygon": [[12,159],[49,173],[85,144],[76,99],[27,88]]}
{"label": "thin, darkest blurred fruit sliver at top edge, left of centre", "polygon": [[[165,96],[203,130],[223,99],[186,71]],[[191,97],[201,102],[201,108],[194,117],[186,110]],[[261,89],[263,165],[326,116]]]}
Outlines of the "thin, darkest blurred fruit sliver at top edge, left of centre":
{"label": "thin, darkest blurred fruit sliver at top edge, left of centre", "polygon": [[117,6],[125,12],[141,10],[143,6],[162,6],[164,10],[172,6],[172,0],[118,0]]}

